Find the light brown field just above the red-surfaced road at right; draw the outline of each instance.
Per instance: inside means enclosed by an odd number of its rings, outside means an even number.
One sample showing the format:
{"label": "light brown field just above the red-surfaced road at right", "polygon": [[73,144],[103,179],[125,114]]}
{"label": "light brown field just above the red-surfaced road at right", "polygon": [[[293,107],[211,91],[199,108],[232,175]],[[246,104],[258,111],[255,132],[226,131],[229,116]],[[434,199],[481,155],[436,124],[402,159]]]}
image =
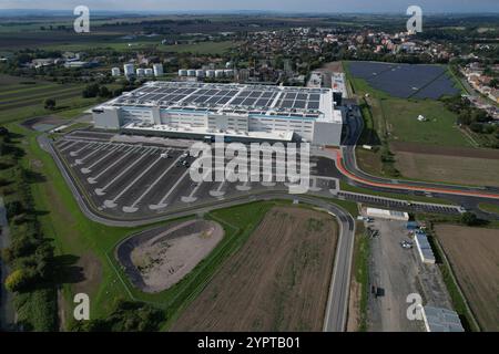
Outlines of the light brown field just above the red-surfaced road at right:
{"label": "light brown field just above the red-surfaced road at right", "polygon": [[414,179],[499,187],[499,159],[397,152],[395,167]]}

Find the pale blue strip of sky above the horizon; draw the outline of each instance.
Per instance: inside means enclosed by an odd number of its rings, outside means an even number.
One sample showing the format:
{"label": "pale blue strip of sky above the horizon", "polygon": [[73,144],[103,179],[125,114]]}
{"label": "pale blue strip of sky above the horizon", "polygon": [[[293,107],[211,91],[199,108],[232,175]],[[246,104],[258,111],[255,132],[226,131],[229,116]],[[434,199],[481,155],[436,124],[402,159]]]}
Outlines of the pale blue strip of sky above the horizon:
{"label": "pale blue strip of sky above the horizon", "polygon": [[0,0],[0,9],[195,11],[272,10],[313,12],[400,12],[417,4],[424,12],[499,12],[499,0]]}

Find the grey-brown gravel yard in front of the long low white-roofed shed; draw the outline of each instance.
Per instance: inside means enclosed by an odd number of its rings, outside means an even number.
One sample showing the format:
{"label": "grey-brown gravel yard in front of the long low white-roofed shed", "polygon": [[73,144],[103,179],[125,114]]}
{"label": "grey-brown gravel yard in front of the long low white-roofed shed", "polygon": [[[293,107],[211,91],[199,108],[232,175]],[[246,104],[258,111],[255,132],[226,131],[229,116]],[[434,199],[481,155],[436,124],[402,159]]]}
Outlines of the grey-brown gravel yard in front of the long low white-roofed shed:
{"label": "grey-brown gravel yard in front of the long low white-roofed shed", "polygon": [[366,222],[370,242],[368,331],[425,331],[422,321],[407,317],[409,294],[419,294],[424,305],[452,309],[438,267],[421,260],[415,230],[407,225],[379,217]]}

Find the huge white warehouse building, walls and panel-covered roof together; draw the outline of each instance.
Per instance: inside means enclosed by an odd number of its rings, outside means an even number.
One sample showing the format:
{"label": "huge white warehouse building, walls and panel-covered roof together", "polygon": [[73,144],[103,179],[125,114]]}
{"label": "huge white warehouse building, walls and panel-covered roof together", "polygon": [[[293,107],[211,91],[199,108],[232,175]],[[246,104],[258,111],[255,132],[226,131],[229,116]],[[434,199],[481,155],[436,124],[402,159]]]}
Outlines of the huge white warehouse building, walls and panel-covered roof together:
{"label": "huge white warehouse building, walls and panel-covered roof together", "polygon": [[226,140],[339,145],[342,111],[329,88],[147,82],[93,108],[95,127]]}

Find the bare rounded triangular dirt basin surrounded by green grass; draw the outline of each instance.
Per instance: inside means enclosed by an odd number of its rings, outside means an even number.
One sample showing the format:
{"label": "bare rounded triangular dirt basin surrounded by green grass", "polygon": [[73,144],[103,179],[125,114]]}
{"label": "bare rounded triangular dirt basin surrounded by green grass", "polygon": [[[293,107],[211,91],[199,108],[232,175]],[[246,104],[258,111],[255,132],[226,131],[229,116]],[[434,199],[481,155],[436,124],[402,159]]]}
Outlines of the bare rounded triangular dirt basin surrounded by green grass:
{"label": "bare rounded triangular dirt basin surrounded by green grass", "polygon": [[191,220],[134,236],[118,248],[118,259],[132,283],[144,292],[171,288],[218,244],[222,226]]}

